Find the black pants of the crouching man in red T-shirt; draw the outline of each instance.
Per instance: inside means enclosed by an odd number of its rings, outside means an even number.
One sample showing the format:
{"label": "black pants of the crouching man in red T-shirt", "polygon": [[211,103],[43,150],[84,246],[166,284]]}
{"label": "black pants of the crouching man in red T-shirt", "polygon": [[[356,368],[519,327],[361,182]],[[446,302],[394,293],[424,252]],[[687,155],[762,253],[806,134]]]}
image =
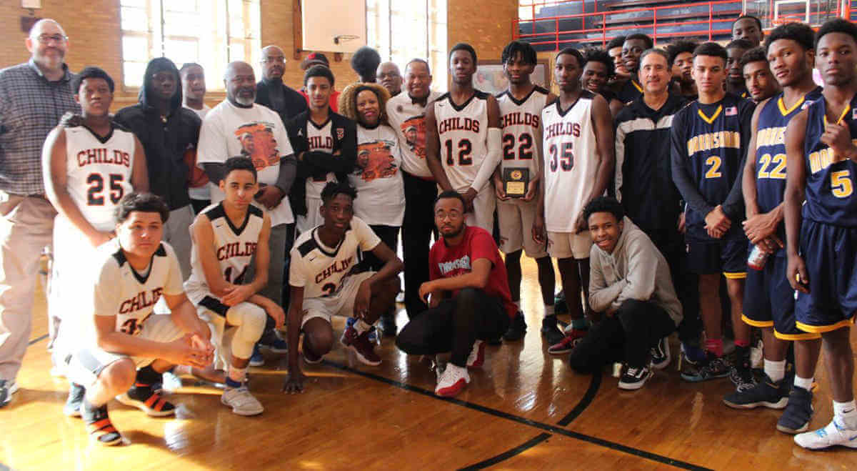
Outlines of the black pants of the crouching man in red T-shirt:
{"label": "black pants of the crouching man in red T-shirt", "polygon": [[499,298],[464,288],[452,299],[411,317],[399,332],[396,346],[411,355],[452,352],[452,365],[464,367],[476,339],[496,339],[507,329],[509,315]]}

